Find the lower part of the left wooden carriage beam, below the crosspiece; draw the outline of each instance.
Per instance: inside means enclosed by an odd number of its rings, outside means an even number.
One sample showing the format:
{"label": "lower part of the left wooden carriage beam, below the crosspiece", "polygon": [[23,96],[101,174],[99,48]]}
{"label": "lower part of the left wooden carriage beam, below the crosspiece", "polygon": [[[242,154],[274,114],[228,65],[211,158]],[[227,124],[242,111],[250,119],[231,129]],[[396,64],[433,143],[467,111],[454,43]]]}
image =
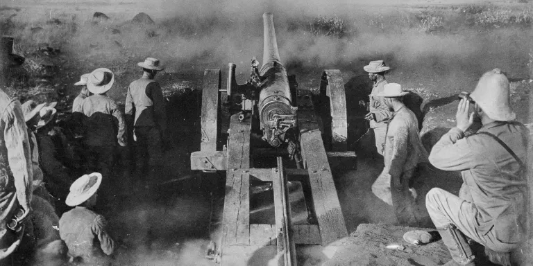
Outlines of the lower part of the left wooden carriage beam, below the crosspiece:
{"label": "lower part of the left wooden carriage beam, below the crosspiece", "polygon": [[243,170],[226,173],[222,247],[248,245],[250,239],[250,175]]}

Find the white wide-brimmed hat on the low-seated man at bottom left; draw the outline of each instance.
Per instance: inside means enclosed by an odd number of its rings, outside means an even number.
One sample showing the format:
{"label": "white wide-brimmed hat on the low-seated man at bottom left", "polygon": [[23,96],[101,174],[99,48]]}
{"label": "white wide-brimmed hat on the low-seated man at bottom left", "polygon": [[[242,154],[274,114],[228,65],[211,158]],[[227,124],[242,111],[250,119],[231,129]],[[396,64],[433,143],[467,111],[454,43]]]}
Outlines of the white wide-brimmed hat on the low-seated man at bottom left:
{"label": "white wide-brimmed hat on the low-seated man at bottom left", "polygon": [[92,197],[102,183],[102,175],[93,172],[90,175],[83,175],[76,179],[70,186],[70,193],[65,200],[68,206],[78,206]]}

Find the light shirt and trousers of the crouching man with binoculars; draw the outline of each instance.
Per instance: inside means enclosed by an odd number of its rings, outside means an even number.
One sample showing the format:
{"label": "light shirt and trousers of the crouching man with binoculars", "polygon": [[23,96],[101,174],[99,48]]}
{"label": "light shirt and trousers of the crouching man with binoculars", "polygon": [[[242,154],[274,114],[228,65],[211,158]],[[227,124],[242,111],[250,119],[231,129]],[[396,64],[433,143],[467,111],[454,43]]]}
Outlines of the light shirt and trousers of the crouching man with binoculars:
{"label": "light shirt and trousers of the crouching man with binoculars", "polygon": [[[519,123],[493,122],[478,132],[498,136],[525,163],[529,132]],[[464,138],[452,128],[434,145],[430,162],[461,171],[459,197],[433,188],[426,206],[437,229],[455,224],[468,238],[493,251],[509,252],[525,237],[526,176],[518,162],[495,139],[484,134]]]}

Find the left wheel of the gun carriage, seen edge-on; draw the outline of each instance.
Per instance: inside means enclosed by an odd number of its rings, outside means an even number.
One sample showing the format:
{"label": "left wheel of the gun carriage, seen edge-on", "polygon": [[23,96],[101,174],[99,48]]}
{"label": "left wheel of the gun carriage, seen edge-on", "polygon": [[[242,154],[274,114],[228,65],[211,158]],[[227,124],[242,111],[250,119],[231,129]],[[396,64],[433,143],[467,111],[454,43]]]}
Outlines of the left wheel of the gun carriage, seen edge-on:
{"label": "left wheel of the gun carriage, seen edge-on", "polygon": [[202,89],[202,114],[201,129],[202,139],[200,150],[216,151],[217,136],[219,132],[220,69],[205,69],[203,72]]}

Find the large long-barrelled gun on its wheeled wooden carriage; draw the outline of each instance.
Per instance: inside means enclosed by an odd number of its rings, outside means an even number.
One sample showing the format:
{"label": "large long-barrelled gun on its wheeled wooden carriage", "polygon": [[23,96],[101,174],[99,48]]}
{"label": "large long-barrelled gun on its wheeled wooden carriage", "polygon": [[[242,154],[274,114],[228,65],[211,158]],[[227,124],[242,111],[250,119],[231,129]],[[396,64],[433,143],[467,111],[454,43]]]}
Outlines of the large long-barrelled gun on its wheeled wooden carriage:
{"label": "large long-barrelled gun on its wheeled wooden carriage", "polygon": [[[252,58],[244,84],[237,83],[232,63],[226,89],[221,89],[220,69],[204,71],[201,150],[191,154],[191,169],[208,178],[226,174],[222,218],[212,218],[219,229],[208,251],[223,265],[248,265],[260,249],[277,253],[278,265],[296,265],[296,245],[326,245],[348,236],[332,177],[332,158],[348,157],[355,165],[346,148],[341,73],[325,70],[320,85],[298,87],[280,59],[269,12],[263,14],[263,29],[262,65]],[[269,184],[273,193],[273,221],[251,218],[258,182]],[[296,183],[307,219],[293,222],[289,187]]]}

